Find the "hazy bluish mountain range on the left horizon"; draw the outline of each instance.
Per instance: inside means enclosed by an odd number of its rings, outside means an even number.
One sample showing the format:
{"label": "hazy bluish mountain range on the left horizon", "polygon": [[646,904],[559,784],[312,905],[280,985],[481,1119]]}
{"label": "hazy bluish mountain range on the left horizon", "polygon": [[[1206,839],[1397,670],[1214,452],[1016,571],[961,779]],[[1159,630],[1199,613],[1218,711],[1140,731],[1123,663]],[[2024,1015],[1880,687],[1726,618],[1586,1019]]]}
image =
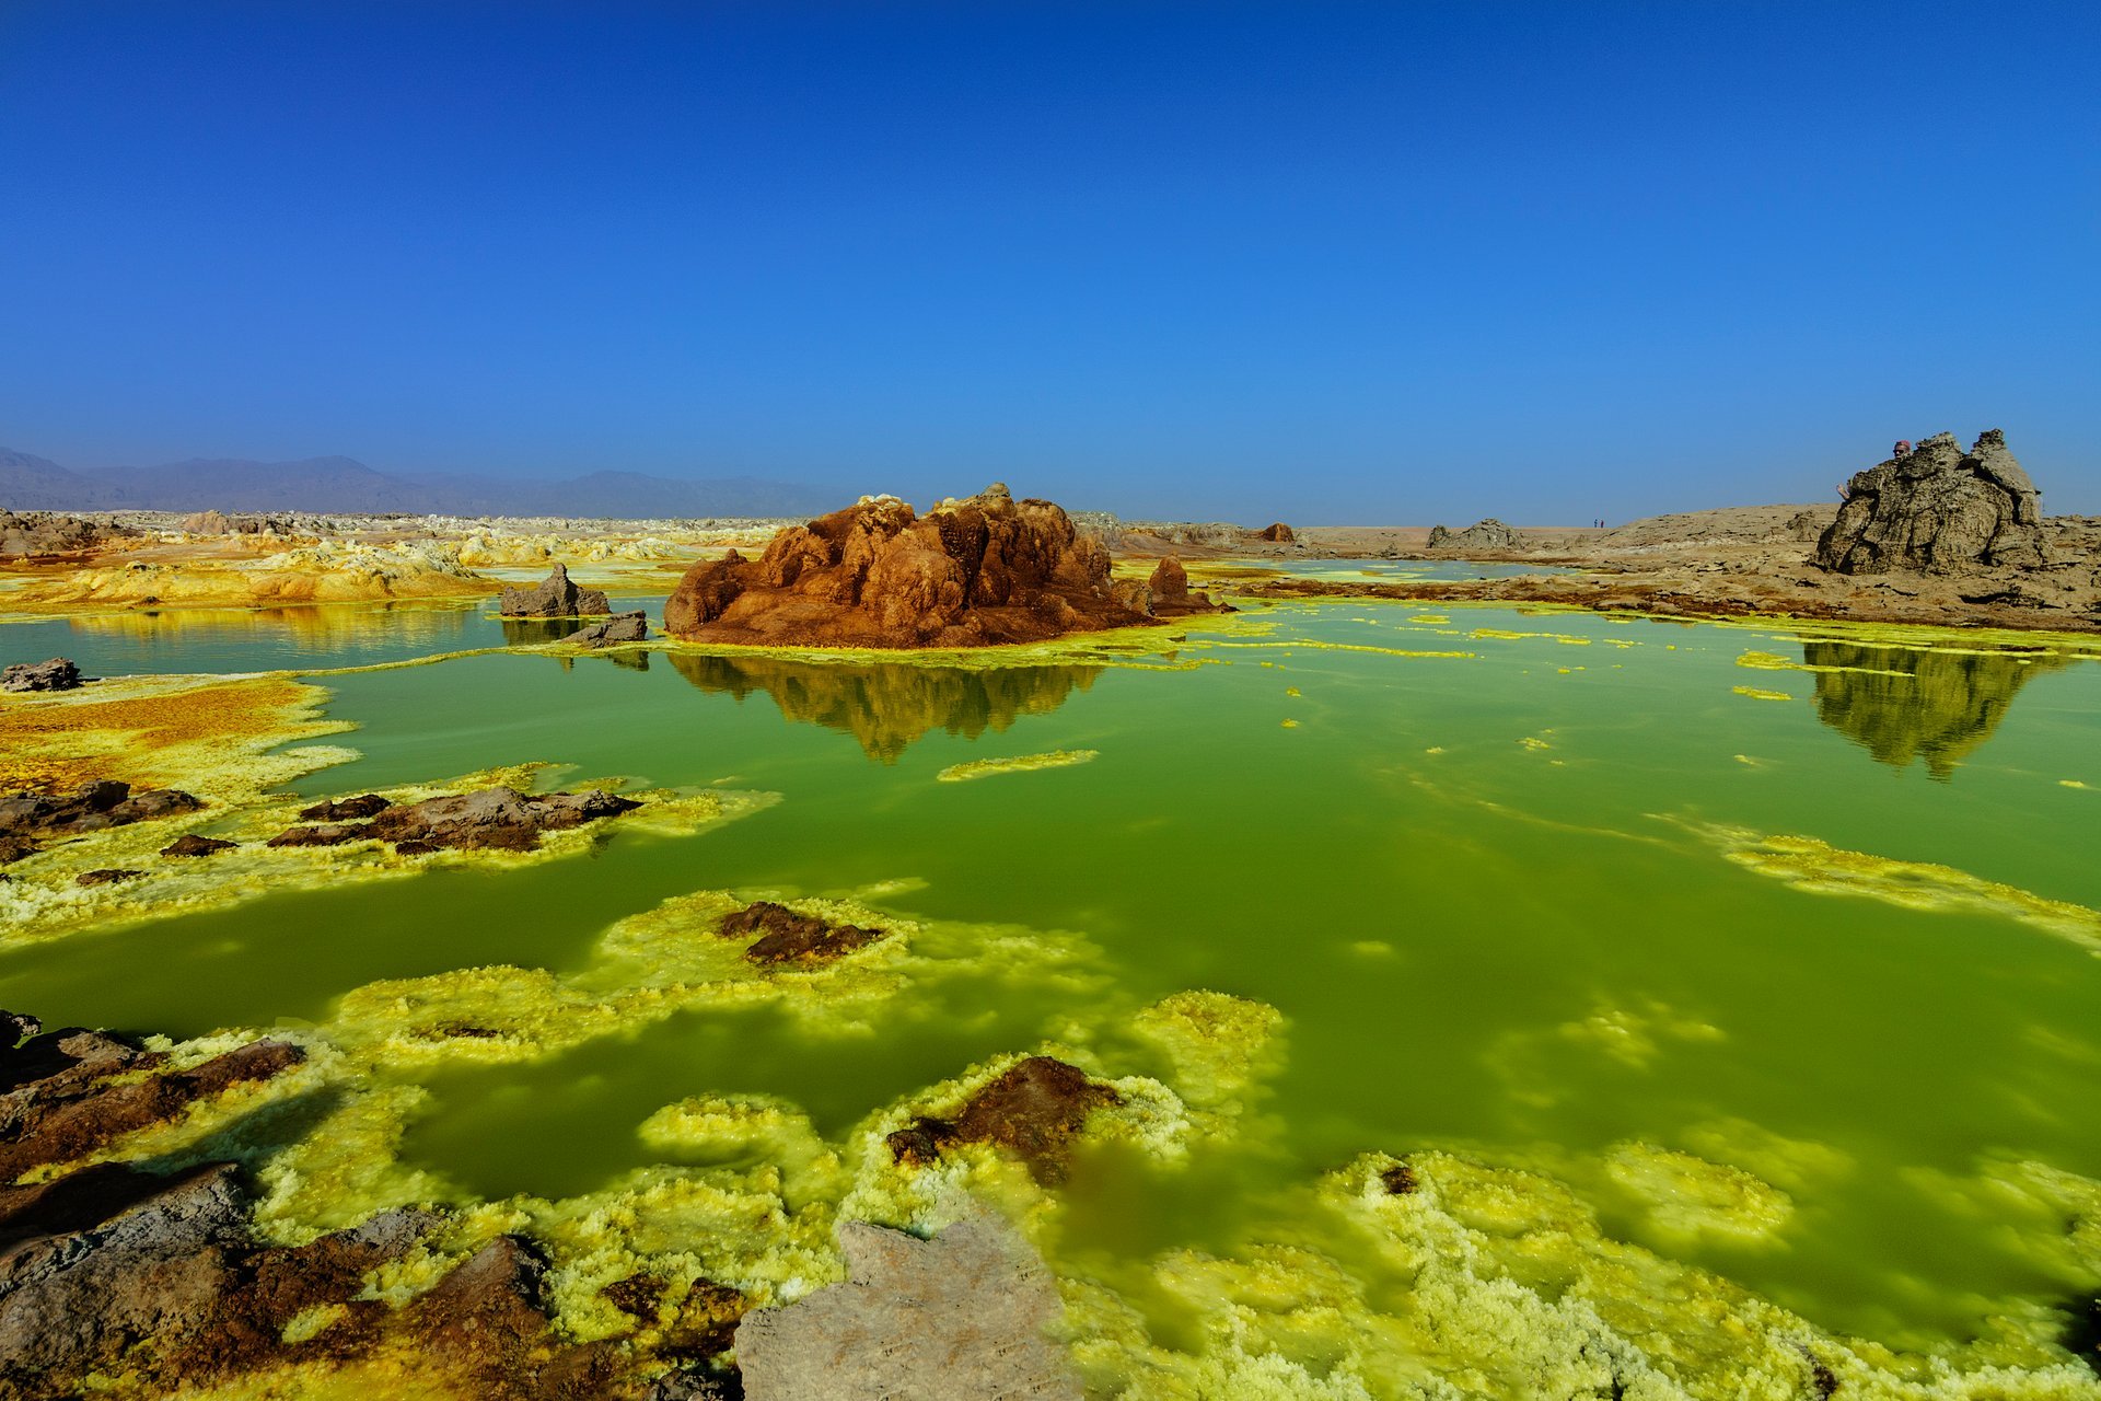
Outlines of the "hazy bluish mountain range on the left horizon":
{"label": "hazy bluish mountain range on the left horizon", "polygon": [[191,458],[166,466],[76,473],[0,447],[0,508],[8,510],[326,510],[345,515],[557,517],[805,517],[838,506],[824,492],[756,477],[677,481],[590,473],[565,481],[376,473],[353,458],[242,462]]}

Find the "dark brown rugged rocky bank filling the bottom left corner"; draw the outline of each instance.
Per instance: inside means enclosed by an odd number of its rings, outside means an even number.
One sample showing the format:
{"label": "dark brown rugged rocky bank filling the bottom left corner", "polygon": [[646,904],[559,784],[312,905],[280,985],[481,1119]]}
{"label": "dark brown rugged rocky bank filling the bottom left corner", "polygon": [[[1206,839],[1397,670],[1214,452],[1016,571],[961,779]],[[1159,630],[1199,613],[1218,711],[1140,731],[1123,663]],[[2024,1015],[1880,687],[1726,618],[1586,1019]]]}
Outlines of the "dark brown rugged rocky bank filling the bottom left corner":
{"label": "dark brown rugged rocky bank filling the bottom left corner", "polygon": [[[700,1309],[712,1332],[666,1330],[649,1348],[569,1342],[550,1323],[540,1254],[511,1235],[450,1271],[418,1264],[435,1281],[389,1304],[372,1298],[370,1279],[427,1248],[441,1225],[433,1212],[397,1208],[305,1246],[271,1246],[235,1164],[168,1176],[80,1162],[300,1059],[265,1040],[170,1071],[166,1057],[122,1038],[40,1033],[34,1017],[0,1012],[0,1397],[103,1395],[111,1378],[124,1382],[116,1395],[172,1395],[319,1367],[256,1393],[313,1395],[328,1367],[345,1367],[342,1395],[643,1401],[656,1395],[649,1372],[693,1367],[729,1346],[742,1306],[727,1317]],[[32,1170],[38,1180],[13,1185]],[[674,1376],[685,1386],[666,1395],[719,1395],[704,1372]]]}

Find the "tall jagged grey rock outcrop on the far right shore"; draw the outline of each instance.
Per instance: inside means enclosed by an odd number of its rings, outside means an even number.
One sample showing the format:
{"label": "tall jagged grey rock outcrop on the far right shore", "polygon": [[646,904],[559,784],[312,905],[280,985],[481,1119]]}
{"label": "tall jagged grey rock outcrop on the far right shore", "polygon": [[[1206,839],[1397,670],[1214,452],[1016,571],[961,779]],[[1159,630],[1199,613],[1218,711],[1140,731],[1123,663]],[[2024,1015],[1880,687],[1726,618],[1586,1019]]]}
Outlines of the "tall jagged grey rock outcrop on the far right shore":
{"label": "tall jagged grey rock outcrop on the far right shore", "polygon": [[1836,573],[1971,573],[2038,567],[2042,502],[1998,428],[1962,452],[1937,433],[1855,473],[1811,563]]}

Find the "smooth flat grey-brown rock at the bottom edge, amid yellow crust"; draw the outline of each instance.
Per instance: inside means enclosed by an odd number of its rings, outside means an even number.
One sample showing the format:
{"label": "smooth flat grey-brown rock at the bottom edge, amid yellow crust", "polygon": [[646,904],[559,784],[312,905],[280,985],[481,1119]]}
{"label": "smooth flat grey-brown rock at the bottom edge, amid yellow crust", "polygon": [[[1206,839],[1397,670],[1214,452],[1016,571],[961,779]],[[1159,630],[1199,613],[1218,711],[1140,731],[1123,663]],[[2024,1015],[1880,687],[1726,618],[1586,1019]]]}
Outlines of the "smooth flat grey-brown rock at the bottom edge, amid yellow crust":
{"label": "smooth flat grey-brown rock at the bottom edge, amid yellow crust", "polygon": [[752,1401],[1080,1399],[1048,1327],[1059,1294],[1008,1227],[958,1220],[933,1239],[838,1225],[847,1281],[737,1325]]}

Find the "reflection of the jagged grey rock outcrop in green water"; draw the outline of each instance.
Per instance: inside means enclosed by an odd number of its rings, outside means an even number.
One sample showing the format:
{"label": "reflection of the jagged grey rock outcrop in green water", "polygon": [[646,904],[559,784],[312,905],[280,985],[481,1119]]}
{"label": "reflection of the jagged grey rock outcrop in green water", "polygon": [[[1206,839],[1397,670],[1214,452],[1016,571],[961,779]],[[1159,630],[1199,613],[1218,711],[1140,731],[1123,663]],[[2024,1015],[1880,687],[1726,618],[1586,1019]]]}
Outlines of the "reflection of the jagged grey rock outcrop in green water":
{"label": "reflection of the jagged grey rock outcrop in green water", "polygon": [[1937,779],[1992,737],[2013,693],[2063,657],[2011,651],[1906,651],[1855,643],[1803,643],[1817,672],[1817,718],[1904,769],[1922,758]]}

